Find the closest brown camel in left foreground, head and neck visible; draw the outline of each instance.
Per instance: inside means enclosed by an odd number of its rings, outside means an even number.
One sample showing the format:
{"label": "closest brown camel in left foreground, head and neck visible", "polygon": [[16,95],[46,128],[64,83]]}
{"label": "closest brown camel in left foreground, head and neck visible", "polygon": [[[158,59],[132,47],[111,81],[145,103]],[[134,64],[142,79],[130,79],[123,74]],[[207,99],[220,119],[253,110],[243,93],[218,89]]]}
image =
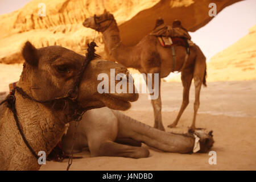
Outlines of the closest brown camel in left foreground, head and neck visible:
{"label": "closest brown camel in left foreground, head and neck visible", "polygon": [[[67,104],[64,100],[47,103],[38,101],[52,100],[67,94],[81,73],[85,56],[60,46],[36,49],[30,42],[24,44],[22,55],[25,61],[18,86],[27,96],[17,91],[10,98],[15,97],[16,117],[32,151],[36,155],[39,151],[48,155],[63,136],[65,125],[73,121],[69,113],[75,112],[76,105],[70,100],[68,106],[64,105]],[[135,92],[98,93],[98,74],[110,76],[111,68],[115,69],[116,74],[129,74],[123,65],[100,58],[86,65],[77,88],[76,101],[80,109],[85,111],[108,106],[111,109],[127,110],[130,102],[138,99]],[[28,99],[28,96],[33,100]],[[0,106],[0,170],[37,170],[40,168],[38,159],[24,143],[14,114],[7,104],[9,102],[2,102]]]}

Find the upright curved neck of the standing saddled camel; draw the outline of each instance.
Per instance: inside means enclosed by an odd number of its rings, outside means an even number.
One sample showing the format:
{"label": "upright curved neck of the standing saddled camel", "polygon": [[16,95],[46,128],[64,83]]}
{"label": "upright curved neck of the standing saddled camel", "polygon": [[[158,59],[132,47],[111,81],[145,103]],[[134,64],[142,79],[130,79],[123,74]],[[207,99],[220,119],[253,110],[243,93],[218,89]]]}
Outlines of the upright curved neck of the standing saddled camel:
{"label": "upright curved neck of the standing saddled camel", "polygon": [[136,46],[125,46],[122,43],[115,20],[102,34],[110,60],[117,61],[127,68],[140,68],[137,56],[140,50]]}

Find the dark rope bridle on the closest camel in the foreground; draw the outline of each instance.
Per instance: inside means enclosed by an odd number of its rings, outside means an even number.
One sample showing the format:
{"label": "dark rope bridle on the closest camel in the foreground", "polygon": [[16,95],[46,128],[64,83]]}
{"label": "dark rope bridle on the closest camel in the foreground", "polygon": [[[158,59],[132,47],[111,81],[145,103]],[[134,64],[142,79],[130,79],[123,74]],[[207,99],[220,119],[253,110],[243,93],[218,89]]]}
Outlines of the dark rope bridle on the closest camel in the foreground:
{"label": "dark rope bridle on the closest camel in the foreground", "polygon": [[[3,103],[7,102],[7,107],[9,107],[9,109],[13,112],[16,126],[18,127],[20,135],[22,135],[22,139],[23,139],[24,143],[26,144],[26,146],[31,151],[32,155],[35,156],[36,159],[39,159],[39,156],[36,155],[36,152],[32,149],[32,147],[28,143],[26,137],[24,137],[23,131],[19,124],[19,119],[17,116],[16,107],[15,107],[15,100],[16,100],[15,92],[18,92],[19,94],[21,94],[23,98],[28,98],[29,100],[39,102],[40,104],[52,104],[53,103],[53,105],[54,105],[56,103],[56,101],[65,101],[65,105],[64,105],[64,108],[65,108],[68,106],[68,102],[72,102],[76,107],[76,109],[74,109],[73,113],[71,114],[72,119],[76,121],[76,125],[75,125],[75,133],[76,133],[78,123],[79,123],[79,121],[81,121],[82,115],[86,111],[86,109],[83,109],[80,106],[79,102],[77,101],[77,97],[79,94],[78,89],[79,89],[79,86],[80,86],[80,83],[82,80],[82,76],[84,75],[85,69],[88,66],[88,64],[90,63],[90,61],[93,60],[95,57],[100,57],[95,53],[96,50],[94,47],[96,47],[96,46],[97,45],[95,42],[91,42],[90,44],[88,44],[86,57],[85,57],[84,62],[82,63],[80,72],[77,74],[76,81],[74,82],[72,89],[70,89],[68,91],[68,93],[65,94],[64,96],[56,97],[52,100],[39,101],[39,100],[36,100],[35,98],[32,98],[31,96],[29,96],[26,92],[24,92],[24,90],[22,88],[16,86],[13,90],[11,90],[9,95],[6,97],[6,100],[4,100],[0,103],[0,105],[2,105]],[[75,140],[75,135],[73,135],[73,139]],[[72,144],[72,155],[69,156],[67,170],[69,169],[69,167],[72,164],[73,145],[74,145],[74,142]],[[70,160],[71,160],[71,163],[70,163]]]}

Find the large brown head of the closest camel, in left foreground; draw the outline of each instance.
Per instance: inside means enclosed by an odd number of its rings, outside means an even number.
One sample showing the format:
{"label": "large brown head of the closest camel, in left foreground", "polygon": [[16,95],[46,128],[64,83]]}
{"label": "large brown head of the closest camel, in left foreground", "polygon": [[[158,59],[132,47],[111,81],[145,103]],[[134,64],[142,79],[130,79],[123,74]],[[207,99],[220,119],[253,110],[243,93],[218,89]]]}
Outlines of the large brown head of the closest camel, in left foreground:
{"label": "large brown head of the closest camel, in left foreground", "polygon": [[[65,96],[72,89],[85,60],[85,56],[61,46],[36,49],[30,42],[26,42],[22,54],[25,62],[18,86],[39,101]],[[138,94],[135,92],[102,94],[98,92],[98,84],[102,81],[98,80],[98,75],[104,73],[110,77],[110,69],[115,69],[115,75],[129,74],[123,65],[112,61],[97,58],[87,65],[77,97],[77,102],[83,109],[108,106],[111,109],[127,110],[130,102],[138,99]],[[133,85],[133,82],[130,83],[127,80],[125,83],[127,88],[128,85]],[[115,86],[117,81],[113,84]],[[110,86],[109,79],[109,90]],[[134,85],[133,89],[135,89]]]}

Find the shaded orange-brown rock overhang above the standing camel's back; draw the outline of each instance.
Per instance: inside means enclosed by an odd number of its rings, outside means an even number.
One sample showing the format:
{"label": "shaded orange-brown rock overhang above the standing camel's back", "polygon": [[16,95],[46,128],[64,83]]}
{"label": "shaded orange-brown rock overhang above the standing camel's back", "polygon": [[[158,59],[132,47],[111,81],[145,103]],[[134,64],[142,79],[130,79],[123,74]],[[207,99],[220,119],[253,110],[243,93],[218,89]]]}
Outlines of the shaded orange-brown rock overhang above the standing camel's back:
{"label": "shaded orange-brown rock overhang above the standing camel's back", "polygon": [[175,19],[179,19],[188,31],[196,31],[213,18],[208,14],[209,3],[216,3],[217,13],[220,13],[224,7],[238,1],[240,0],[162,0],[119,26],[122,42],[127,46],[137,44],[139,40],[151,32],[155,26],[155,20],[159,17],[162,17],[166,24],[172,24]]}

